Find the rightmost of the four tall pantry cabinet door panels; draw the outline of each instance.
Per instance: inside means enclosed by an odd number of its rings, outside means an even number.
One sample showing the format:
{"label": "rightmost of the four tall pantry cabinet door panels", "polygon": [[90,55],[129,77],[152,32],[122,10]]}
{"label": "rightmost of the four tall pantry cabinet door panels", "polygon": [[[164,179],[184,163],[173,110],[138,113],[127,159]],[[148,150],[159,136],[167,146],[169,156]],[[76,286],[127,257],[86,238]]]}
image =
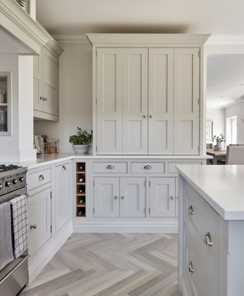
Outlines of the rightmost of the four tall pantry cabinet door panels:
{"label": "rightmost of the four tall pantry cabinet door panels", "polygon": [[174,49],[174,155],[199,155],[199,48]]}

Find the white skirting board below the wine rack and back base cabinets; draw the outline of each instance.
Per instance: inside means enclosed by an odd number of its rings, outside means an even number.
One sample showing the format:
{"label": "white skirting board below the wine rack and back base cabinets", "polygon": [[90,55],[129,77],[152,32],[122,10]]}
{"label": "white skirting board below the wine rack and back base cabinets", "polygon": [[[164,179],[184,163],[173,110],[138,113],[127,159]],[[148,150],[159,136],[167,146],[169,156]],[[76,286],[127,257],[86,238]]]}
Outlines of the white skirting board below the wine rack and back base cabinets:
{"label": "white skirting board below the wine rack and back base cabinets", "polygon": [[95,233],[177,233],[178,223],[169,224],[81,224],[73,222],[73,232]]}

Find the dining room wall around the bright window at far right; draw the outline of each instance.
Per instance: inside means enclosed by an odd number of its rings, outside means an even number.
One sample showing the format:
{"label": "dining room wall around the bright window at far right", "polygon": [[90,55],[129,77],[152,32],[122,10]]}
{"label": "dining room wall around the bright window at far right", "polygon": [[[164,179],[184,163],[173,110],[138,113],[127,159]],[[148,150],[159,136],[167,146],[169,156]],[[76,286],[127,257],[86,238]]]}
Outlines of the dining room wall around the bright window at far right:
{"label": "dining room wall around the bright window at far right", "polygon": [[244,144],[244,123],[241,121],[241,116],[244,116],[244,102],[225,109],[225,124],[226,118],[233,116],[237,116],[237,144]]}

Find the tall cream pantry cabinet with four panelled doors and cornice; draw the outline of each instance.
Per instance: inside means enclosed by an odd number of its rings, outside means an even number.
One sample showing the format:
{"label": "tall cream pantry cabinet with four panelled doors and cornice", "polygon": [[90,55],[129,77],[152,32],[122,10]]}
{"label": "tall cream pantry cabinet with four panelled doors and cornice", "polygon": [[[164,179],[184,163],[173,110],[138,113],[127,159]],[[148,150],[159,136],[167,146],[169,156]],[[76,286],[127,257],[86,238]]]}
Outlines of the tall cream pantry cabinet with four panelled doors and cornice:
{"label": "tall cream pantry cabinet with four panelled doors and cornice", "polygon": [[86,35],[94,58],[93,154],[201,155],[200,53],[209,35]]}

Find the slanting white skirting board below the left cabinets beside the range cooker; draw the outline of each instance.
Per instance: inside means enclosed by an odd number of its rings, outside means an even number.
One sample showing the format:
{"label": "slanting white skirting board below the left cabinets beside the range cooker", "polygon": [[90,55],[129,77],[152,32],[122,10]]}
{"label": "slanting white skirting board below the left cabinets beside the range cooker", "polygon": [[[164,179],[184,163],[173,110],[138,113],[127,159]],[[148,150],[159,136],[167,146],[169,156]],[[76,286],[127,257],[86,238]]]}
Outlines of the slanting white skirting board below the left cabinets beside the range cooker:
{"label": "slanting white skirting board below the left cabinets beside the range cooker", "polygon": [[[67,241],[67,239],[72,234],[72,223],[70,223],[55,239],[51,244],[43,250],[43,252],[36,258],[36,260],[29,265],[29,281],[26,286],[29,286],[42,269],[49,263],[53,256],[58,252],[62,245]],[[45,255],[43,253],[45,252]]]}

